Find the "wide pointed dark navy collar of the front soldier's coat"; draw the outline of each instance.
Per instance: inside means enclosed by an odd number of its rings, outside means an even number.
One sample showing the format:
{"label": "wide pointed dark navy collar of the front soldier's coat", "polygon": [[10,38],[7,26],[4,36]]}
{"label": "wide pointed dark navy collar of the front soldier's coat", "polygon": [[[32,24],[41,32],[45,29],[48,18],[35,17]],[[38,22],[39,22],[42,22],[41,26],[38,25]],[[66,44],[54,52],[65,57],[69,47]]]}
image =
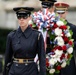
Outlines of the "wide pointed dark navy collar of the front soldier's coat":
{"label": "wide pointed dark navy collar of the front soldier's coat", "polygon": [[17,29],[18,37],[20,37],[22,34],[24,34],[25,37],[28,38],[31,33],[32,33],[32,28],[30,26],[28,26],[24,32],[22,32],[20,27]]}

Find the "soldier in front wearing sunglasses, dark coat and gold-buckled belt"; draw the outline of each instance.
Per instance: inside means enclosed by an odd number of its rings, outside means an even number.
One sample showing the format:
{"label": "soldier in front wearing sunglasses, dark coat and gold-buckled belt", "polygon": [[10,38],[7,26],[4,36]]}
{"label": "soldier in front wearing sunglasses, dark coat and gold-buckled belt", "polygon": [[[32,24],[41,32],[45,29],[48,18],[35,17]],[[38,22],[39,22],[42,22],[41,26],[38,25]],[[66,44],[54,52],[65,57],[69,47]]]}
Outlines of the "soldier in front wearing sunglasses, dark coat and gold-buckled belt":
{"label": "soldier in front wearing sunglasses, dark coat and gold-buckled belt", "polygon": [[[33,8],[16,7],[13,8],[19,20],[26,20],[31,15]],[[23,24],[24,21],[21,23]],[[40,70],[34,58],[38,54]],[[13,59],[13,60],[12,60]],[[7,75],[7,66],[12,62],[8,75],[46,75],[46,57],[44,41],[41,32],[32,29],[29,25],[24,31],[21,27],[12,31],[7,36],[5,66],[3,75]]]}

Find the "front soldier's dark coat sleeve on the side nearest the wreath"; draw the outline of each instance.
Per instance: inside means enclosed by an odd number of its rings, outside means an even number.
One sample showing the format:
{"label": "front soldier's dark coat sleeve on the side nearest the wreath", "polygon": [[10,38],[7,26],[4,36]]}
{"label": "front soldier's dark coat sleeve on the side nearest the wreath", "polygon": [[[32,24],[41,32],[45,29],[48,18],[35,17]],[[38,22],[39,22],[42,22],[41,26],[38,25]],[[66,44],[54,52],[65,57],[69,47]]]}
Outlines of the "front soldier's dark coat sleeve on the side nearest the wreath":
{"label": "front soldier's dark coat sleeve on the side nearest the wreath", "polygon": [[40,65],[40,72],[39,75],[46,75],[46,56],[45,56],[45,49],[44,49],[44,40],[43,36],[40,33],[38,35],[38,58],[39,58],[39,65]]}

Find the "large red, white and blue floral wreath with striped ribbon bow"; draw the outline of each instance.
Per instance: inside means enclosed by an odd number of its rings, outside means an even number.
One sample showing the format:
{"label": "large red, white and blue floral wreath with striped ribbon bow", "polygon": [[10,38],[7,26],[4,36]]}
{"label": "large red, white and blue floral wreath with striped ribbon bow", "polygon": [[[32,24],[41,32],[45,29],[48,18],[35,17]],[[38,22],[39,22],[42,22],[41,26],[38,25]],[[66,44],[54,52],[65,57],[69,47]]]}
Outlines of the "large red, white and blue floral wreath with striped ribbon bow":
{"label": "large red, white and blue floral wreath with striped ribbon bow", "polygon": [[45,43],[46,35],[50,37],[52,50],[46,54],[46,70],[50,75],[59,73],[62,68],[69,65],[72,58],[73,32],[66,25],[66,21],[59,19],[55,13],[50,14],[48,9],[34,12],[32,17],[33,23],[30,25],[42,32]]}

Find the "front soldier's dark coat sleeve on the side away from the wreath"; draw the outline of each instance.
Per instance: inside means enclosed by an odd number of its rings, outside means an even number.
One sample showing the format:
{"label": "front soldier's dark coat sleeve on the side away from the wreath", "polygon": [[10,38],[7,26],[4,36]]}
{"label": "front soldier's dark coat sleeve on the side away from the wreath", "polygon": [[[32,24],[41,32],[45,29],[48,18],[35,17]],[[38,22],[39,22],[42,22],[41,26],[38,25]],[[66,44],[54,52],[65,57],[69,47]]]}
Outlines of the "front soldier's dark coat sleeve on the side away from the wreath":
{"label": "front soldier's dark coat sleeve on the side away from the wreath", "polygon": [[6,51],[5,51],[5,61],[4,61],[4,71],[3,75],[6,75],[6,67],[8,63],[11,62],[12,59],[12,47],[11,47],[11,38],[10,35],[7,36],[7,41],[6,41]]}

